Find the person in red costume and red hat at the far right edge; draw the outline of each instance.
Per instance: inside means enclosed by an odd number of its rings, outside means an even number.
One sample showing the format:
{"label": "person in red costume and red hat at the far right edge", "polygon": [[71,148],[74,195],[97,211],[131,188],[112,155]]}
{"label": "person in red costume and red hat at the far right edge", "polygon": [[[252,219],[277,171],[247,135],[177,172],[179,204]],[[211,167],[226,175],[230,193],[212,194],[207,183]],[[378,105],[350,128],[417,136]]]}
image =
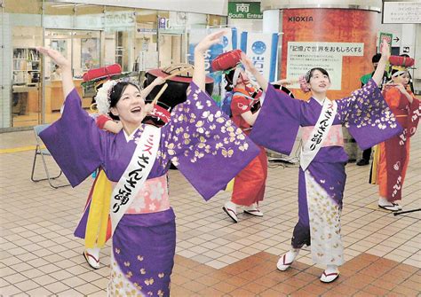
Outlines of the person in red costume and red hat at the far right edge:
{"label": "person in red costume and red hat at the far right edge", "polygon": [[370,180],[378,184],[378,207],[395,212],[402,209],[398,201],[409,163],[410,137],[417,131],[421,106],[409,90],[408,67],[414,59],[393,56],[390,62],[392,81],[385,84],[383,96],[403,131],[376,146]]}

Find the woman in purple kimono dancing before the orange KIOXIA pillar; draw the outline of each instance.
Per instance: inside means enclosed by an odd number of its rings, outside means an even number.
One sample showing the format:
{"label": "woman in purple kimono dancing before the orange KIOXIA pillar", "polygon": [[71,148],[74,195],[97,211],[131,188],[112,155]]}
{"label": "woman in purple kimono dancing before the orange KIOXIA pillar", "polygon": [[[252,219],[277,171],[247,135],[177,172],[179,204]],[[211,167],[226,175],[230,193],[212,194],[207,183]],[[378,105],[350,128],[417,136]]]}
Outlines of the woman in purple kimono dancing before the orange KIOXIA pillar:
{"label": "woman in purple kimono dancing before the orange KIOXIA pillar", "polygon": [[292,249],[282,255],[277,264],[279,270],[288,269],[300,248],[307,245],[311,246],[313,261],[327,266],[322,273],[322,282],[330,283],[339,275],[338,266],[344,262],[340,214],[348,160],[341,126],[348,127],[361,149],[401,131],[377,88],[390,55],[388,47],[383,48],[373,78],[362,89],[353,91],[350,97],[333,101],[326,98],[330,77],[322,68],[311,69],[306,74],[306,87],[313,95],[306,102],[275,91],[252,66],[250,59],[243,58],[243,64],[258,83],[266,85],[265,101],[250,138],[258,145],[290,154],[298,128],[302,129],[299,220],[292,236]]}

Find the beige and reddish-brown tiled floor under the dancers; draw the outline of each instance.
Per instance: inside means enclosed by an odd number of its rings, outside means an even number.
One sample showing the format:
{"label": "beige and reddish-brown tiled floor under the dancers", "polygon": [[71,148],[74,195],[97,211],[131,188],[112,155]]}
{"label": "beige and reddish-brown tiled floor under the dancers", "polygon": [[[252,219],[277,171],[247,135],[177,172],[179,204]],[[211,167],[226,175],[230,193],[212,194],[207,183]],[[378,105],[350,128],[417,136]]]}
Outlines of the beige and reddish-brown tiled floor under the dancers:
{"label": "beige and reddish-brown tiled floor under the dancers", "polygon": [[[5,148],[35,145],[31,131],[0,134]],[[30,182],[33,151],[0,153],[0,294],[4,296],[105,296],[109,249],[102,268],[84,262],[83,241],[73,230],[91,179],[75,189],[53,190]],[[54,168],[53,162],[49,162]],[[42,172],[38,167],[37,172]],[[334,284],[324,285],[303,251],[288,271],[276,261],[290,247],[297,221],[298,168],[271,163],[263,218],[239,215],[234,224],[221,207],[229,193],[209,202],[172,171],[171,203],[178,224],[171,296],[416,296],[421,294],[420,213],[393,216],[377,208],[369,167],[346,167],[342,216],[346,264]],[[412,139],[404,185],[405,209],[420,207],[421,135]]]}

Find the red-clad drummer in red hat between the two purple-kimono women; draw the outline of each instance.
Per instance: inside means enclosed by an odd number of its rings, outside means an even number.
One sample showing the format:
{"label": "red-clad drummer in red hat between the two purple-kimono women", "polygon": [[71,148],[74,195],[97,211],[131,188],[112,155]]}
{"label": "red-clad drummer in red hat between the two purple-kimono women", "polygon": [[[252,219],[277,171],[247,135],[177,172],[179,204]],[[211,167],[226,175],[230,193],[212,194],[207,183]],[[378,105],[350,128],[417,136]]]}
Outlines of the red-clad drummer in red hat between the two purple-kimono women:
{"label": "red-clad drummer in red hat between the two purple-kimono women", "polygon": [[[240,64],[241,53],[242,51],[234,50],[219,55],[213,60],[212,68],[215,69],[215,66],[221,64],[228,65],[228,69],[218,68],[218,70],[227,71],[225,75],[227,92],[224,104],[229,104],[229,111],[224,108],[223,111],[231,116],[231,120],[242,129],[244,134],[249,135],[258,117],[261,91],[250,85],[249,76]],[[251,160],[235,176],[231,199],[222,207],[234,223],[238,223],[237,207],[243,207],[244,214],[263,216],[258,203],[265,195],[267,158],[265,148],[259,147],[259,149],[258,157]]]}

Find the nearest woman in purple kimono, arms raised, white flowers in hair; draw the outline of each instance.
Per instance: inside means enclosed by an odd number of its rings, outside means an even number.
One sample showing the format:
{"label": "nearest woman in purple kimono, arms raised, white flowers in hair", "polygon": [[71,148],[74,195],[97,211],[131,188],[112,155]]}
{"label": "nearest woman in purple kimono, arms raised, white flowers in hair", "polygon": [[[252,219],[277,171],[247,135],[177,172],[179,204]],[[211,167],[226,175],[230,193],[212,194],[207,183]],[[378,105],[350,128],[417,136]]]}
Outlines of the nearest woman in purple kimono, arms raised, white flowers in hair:
{"label": "nearest woman in purple kimono, arms raised, white flowers in hair", "polygon": [[207,200],[258,155],[258,147],[203,91],[203,53],[223,34],[208,35],[196,46],[187,101],[173,109],[162,128],[141,123],[153,106],[145,105],[139,88],[116,82],[109,90],[110,111],[123,123],[116,135],[99,130],[83,111],[68,60],[58,51],[39,49],[61,67],[66,97],[60,120],[41,134],[45,145],[73,186],[99,166],[115,183],[109,201],[114,233],[108,295],[170,296],[176,244],[166,184],[170,161]]}

